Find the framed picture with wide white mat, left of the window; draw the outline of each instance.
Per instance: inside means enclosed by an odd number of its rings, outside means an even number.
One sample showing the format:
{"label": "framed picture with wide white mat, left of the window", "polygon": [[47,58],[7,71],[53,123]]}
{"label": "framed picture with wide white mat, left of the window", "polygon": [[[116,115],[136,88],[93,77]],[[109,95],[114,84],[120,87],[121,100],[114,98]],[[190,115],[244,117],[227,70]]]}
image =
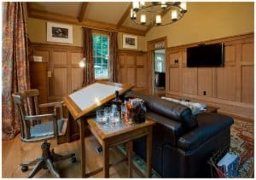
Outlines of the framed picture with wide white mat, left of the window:
{"label": "framed picture with wide white mat, left of the window", "polygon": [[73,44],[73,26],[47,22],[47,41]]}

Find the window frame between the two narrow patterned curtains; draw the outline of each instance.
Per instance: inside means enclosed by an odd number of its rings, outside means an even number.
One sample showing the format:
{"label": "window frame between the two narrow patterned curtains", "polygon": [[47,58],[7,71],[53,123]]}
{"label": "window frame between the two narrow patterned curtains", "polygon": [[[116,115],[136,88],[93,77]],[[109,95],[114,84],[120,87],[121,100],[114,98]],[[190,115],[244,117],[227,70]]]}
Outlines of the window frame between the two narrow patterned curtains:
{"label": "window frame between the two narrow patterned curtains", "polygon": [[[110,55],[109,55],[109,52],[110,52],[110,49],[109,49],[109,44],[110,44],[110,37],[109,37],[109,33],[108,32],[103,32],[103,31],[100,31],[100,30],[94,30],[94,31],[92,31],[92,36],[93,35],[98,35],[98,36],[105,36],[105,37],[108,37],[108,78],[96,78],[96,74],[94,74],[94,78],[95,78],[95,80],[96,81],[101,81],[101,80],[109,80],[110,79],[110,63],[109,63],[109,59],[110,59]],[[92,41],[92,44],[93,44],[93,41]],[[94,58],[97,58],[97,57],[99,57],[99,58],[102,58],[102,56],[94,56],[94,49],[93,49],[93,47],[92,47],[92,50],[93,50],[93,52],[92,52],[92,58],[93,58],[93,64],[95,64],[94,63]],[[95,71],[95,68],[94,68],[94,71]]]}

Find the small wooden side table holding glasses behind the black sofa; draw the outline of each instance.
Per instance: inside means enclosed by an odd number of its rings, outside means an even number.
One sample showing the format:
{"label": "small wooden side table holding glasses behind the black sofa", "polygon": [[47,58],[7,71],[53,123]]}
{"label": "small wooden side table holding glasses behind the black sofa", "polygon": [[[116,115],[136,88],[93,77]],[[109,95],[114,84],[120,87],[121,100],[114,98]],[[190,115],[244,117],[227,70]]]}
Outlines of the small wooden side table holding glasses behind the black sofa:
{"label": "small wooden side table holding glasses behind the black sofa", "polygon": [[[117,146],[121,143],[126,143],[126,154],[128,161],[128,177],[132,177],[132,140],[141,136],[147,136],[147,174],[146,177],[151,177],[152,164],[152,128],[154,121],[146,119],[144,123],[138,125],[127,125],[120,129],[104,131],[102,125],[96,123],[95,119],[88,119],[90,131],[103,148],[103,174],[104,177],[109,177],[109,148]],[[99,171],[97,171],[99,172]],[[88,177],[88,176],[86,176]]]}

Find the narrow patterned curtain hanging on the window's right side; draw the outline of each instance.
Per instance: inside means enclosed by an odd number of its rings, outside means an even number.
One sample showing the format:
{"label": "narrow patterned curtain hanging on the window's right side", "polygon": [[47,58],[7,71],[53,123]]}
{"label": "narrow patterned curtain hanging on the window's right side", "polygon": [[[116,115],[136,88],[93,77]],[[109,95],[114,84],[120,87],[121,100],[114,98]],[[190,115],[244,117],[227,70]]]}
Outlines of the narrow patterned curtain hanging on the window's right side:
{"label": "narrow patterned curtain hanging on the window's right side", "polygon": [[109,74],[110,81],[117,82],[117,64],[118,64],[118,33],[109,32]]}

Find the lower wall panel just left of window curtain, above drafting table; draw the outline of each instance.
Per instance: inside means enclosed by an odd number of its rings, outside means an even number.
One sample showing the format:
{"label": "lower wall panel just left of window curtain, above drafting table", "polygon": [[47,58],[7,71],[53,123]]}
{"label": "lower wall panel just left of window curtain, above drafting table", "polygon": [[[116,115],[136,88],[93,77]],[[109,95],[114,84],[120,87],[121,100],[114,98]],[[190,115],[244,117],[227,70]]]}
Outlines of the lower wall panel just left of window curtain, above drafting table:
{"label": "lower wall panel just left of window curtain, above drafting table", "polygon": [[71,91],[79,90],[83,87],[83,68],[72,68],[71,70]]}

